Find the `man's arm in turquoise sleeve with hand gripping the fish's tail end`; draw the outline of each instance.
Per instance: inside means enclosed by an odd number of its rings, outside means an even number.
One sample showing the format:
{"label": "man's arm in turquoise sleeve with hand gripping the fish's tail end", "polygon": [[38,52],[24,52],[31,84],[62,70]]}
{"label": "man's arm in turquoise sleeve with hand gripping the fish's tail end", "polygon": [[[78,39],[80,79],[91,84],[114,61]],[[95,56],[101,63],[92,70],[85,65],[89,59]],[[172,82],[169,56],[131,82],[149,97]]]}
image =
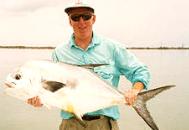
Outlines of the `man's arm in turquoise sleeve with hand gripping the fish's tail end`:
{"label": "man's arm in turquoise sleeve with hand gripping the fish's tail end", "polygon": [[149,70],[133,53],[122,46],[116,47],[114,56],[119,72],[133,84],[132,89],[125,92],[126,103],[133,105],[138,93],[147,89],[149,85]]}

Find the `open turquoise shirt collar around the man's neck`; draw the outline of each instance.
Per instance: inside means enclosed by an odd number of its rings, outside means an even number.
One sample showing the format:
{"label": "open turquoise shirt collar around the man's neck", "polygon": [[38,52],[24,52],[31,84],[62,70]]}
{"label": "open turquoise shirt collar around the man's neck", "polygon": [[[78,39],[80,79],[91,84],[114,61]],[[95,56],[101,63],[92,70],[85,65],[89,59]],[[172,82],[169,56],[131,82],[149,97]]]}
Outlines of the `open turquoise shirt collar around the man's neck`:
{"label": "open turquoise shirt collar around the man's neck", "polygon": [[[79,47],[75,44],[75,40],[74,40],[74,39],[75,39],[74,34],[72,34],[72,35],[71,35],[71,38],[70,38],[70,41],[69,41],[70,48],[71,48],[71,47],[79,48]],[[99,45],[99,44],[100,44],[100,39],[98,38],[98,36],[97,36],[95,33],[93,33],[92,41],[91,41],[91,43],[89,44],[89,46],[88,46],[87,49],[92,48],[92,47],[95,47],[95,46],[97,46],[97,45]]]}

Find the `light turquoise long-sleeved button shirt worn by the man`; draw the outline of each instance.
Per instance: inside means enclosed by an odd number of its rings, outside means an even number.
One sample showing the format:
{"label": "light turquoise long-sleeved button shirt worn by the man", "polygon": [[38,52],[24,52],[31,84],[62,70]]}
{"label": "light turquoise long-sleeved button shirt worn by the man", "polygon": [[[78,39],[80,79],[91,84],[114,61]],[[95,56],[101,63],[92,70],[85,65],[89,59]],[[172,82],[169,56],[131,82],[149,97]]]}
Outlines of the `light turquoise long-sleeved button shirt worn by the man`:
{"label": "light turquoise long-sleeved button shirt worn by the man", "polygon": [[[94,68],[103,80],[112,87],[117,88],[121,75],[124,75],[130,82],[142,82],[145,88],[148,87],[150,74],[147,67],[141,63],[125,46],[120,43],[97,36],[93,38],[86,50],[78,47],[74,42],[74,35],[70,41],[57,46],[52,53],[55,62],[61,61],[70,64],[108,64]],[[120,117],[118,106],[101,109],[88,115],[105,115],[117,120]],[[61,111],[63,119],[69,119],[71,113]]]}

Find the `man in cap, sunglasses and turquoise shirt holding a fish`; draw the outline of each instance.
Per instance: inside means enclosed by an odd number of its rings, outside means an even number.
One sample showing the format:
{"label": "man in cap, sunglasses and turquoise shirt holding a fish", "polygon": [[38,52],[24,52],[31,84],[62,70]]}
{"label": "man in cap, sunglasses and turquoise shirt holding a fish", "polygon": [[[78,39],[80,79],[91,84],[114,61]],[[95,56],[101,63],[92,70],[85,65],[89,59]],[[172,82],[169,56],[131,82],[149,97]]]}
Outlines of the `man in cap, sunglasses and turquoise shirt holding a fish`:
{"label": "man in cap, sunglasses and turquoise shirt holding a fish", "polygon": [[[68,14],[73,34],[67,44],[56,47],[52,54],[53,60],[70,64],[108,64],[108,66],[94,68],[94,72],[116,88],[121,75],[130,80],[133,86],[125,93],[125,100],[128,105],[132,105],[137,94],[149,84],[150,76],[147,67],[123,45],[93,32],[92,27],[96,21],[93,7],[79,2],[67,7],[65,12]],[[35,107],[42,106],[38,97],[28,99],[28,103]],[[61,117],[63,120],[60,130],[119,129],[117,107],[87,113],[82,118],[87,124],[86,127],[82,126],[71,113],[62,111]]]}

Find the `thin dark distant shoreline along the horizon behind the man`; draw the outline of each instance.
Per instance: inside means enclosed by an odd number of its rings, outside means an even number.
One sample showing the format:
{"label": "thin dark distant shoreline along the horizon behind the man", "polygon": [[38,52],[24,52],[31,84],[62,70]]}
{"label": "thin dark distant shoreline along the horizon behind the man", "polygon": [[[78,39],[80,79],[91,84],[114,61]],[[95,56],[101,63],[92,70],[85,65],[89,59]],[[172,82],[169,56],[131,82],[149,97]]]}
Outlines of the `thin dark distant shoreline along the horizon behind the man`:
{"label": "thin dark distant shoreline along the horizon behind the man", "polygon": [[[53,46],[0,46],[0,49],[54,49]],[[127,47],[133,50],[189,50],[189,47]]]}

